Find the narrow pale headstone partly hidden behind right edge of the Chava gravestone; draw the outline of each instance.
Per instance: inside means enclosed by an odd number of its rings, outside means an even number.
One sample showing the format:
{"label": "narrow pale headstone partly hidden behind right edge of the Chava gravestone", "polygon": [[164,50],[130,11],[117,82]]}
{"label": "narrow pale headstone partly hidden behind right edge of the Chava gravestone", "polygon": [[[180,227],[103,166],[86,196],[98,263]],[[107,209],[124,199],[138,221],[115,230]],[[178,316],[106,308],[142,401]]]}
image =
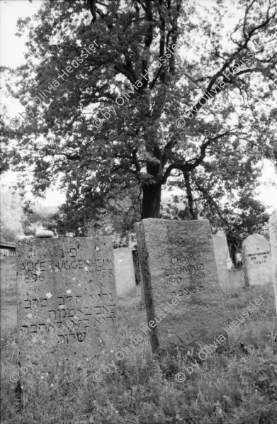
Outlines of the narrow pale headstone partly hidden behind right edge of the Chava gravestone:
{"label": "narrow pale headstone partly hidden behind right edge of the Chava gravestone", "polygon": [[226,235],[223,231],[217,231],[213,236],[213,246],[215,250],[215,263],[217,267],[217,274],[220,280],[220,286],[223,290],[229,290],[230,278],[229,271],[227,268],[227,251],[228,245]]}

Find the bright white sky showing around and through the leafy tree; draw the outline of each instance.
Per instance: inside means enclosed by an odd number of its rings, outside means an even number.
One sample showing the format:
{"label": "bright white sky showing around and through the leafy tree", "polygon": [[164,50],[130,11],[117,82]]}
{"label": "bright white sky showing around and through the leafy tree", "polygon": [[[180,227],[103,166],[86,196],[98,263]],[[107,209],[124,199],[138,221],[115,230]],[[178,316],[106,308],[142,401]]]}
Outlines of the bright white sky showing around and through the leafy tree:
{"label": "bright white sky showing around and through the leafy tree", "polygon": [[[204,2],[205,6],[213,3],[213,0],[198,0]],[[17,37],[16,22],[18,18],[26,18],[32,16],[40,9],[43,0],[33,0],[32,3],[28,0],[0,0],[0,64],[1,66],[18,67],[25,62],[24,52],[26,52],[26,38]],[[235,7],[235,6],[232,6]],[[235,17],[237,22],[238,17]],[[230,16],[226,16],[226,26],[232,28],[234,20]],[[6,98],[1,92],[1,104],[4,104],[9,112],[9,118],[18,116],[18,113],[24,111],[23,106],[16,99],[11,97]],[[256,199],[263,201],[268,206],[268,212],[271,213],[274,208],[277,208],[277,176],[274,171],[273,164],[269,161],[264,161],[262,176],[259,179],[259,187],[256,190]],[[6,172],[1,176],[1,186],[9,186],[17,178],[16,173]],[[180,193],[180,191],[178,190]],[[176,192],[177,194],[177,192]],[[169,198],[174,195],[174,191],[163,191],[162,199],[169,201]],[[28,196],[32,199],[32,196]],[[34,200],[34,199],[33,199]],[[57,189],[47,189],[44,200],[39,200],[40,203],[45,203],[47,206],[59,206],[64,203],[65,195]]]}

